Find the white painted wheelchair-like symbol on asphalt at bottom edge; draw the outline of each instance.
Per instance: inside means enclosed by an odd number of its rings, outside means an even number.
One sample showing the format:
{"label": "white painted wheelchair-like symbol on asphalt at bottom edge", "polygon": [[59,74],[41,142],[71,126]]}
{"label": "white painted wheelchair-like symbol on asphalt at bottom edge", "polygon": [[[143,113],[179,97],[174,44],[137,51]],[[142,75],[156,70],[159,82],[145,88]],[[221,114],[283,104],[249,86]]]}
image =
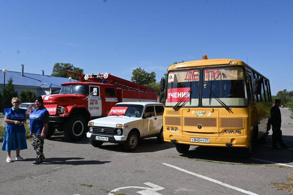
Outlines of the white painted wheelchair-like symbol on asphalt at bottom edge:
{"label": "white painted wheelchair-like symbol on asphalt at bottom edge", "polygon": [[142,195],[162,195],[162,194],[160,194],[160,193],[158,193],[156,191],[165,189],[165,188],[163,188],[161,186],[158,186],[158,185],[153,184],[153,183],[150,183],[150,182],[146,182],[144,184],[146,184],[147,186],[150,186],[151,188],[148,188],[148,187],[139,187],[139,186],[126,186],[126,187],[120,187],[120,188],[113,189],[108,195],[113,195],[112,192],[116,192],[118,190],[127,189],[127,188],[144,189],[142,191],[137,191],[138,194],[142,194]]}

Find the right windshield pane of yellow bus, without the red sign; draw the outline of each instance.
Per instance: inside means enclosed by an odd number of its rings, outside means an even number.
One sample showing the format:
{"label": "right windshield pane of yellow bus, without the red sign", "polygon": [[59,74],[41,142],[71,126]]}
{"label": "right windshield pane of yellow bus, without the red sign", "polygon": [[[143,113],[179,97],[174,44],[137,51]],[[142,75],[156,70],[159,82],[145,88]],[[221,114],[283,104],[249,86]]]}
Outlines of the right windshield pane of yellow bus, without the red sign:
{"label": "right windshield pane of yellow bus, without the red sign", "polygon": [[203,69],[202,106],[222,106],[216,98],[227,106],[248,104],[244,72],[241,67]]}

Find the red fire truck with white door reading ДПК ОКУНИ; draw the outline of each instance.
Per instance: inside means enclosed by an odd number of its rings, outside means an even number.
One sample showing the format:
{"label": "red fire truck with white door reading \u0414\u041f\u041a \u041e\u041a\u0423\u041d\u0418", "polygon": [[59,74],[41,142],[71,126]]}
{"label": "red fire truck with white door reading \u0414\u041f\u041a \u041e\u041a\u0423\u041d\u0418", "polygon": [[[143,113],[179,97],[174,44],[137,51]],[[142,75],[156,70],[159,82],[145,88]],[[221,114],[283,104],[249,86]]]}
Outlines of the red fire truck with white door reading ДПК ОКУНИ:
{"label": "red fire truck with white door reading \u0414\u041f\u041a \u041e\u041a\u0423\u041d\u0418", "polygon": [[55,129],[63,131],[69,141],[80,141],[87,132],[88,121],[107,116],[118,102],[156,102],[156,92],[122,78],[104,74],[79,76],[78,82],[62,83],[59,94],[44,95],[44,106],[49,111],[50,138]]}

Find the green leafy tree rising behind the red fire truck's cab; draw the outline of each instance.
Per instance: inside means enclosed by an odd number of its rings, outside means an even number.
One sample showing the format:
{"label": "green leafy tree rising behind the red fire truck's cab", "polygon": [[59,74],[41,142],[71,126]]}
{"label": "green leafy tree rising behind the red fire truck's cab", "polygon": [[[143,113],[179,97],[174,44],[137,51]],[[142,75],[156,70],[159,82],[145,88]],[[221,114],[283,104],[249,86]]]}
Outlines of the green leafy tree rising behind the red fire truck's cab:
{"label": "green leafy tree rising behind the red fire truck's cab", "polygon": [[75,74],[70,74],[65,71],[71,71],[75,73],[84,73],[84,69],[75,67],[73,64],[70,63],[56,63],[53,66],[52,74],[51,76],[59,76],[59,77],[65,77],[69,78],[72,77],[75,80],[78,80],[78,76]]}

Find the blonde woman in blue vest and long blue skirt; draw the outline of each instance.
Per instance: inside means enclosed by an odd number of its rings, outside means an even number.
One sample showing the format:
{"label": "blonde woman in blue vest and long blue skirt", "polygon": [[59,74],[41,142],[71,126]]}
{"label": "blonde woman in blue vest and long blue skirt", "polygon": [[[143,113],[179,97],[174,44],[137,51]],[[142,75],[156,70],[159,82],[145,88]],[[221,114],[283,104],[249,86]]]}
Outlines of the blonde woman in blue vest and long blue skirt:
{"label": "blonde woman in blue vest and long blue skirt", "polygon": [[20,150],[28,149],[25,138],[24,123],[26,122],[25,109],[19,108],[20,100],[12,98],[13,107],[4,110],[4,122],[7,123],[4,133],[2,150],[7,151],[6,162],[11,163],[11,150],[16,150],[15,160],[23,160],[19,155]]}

